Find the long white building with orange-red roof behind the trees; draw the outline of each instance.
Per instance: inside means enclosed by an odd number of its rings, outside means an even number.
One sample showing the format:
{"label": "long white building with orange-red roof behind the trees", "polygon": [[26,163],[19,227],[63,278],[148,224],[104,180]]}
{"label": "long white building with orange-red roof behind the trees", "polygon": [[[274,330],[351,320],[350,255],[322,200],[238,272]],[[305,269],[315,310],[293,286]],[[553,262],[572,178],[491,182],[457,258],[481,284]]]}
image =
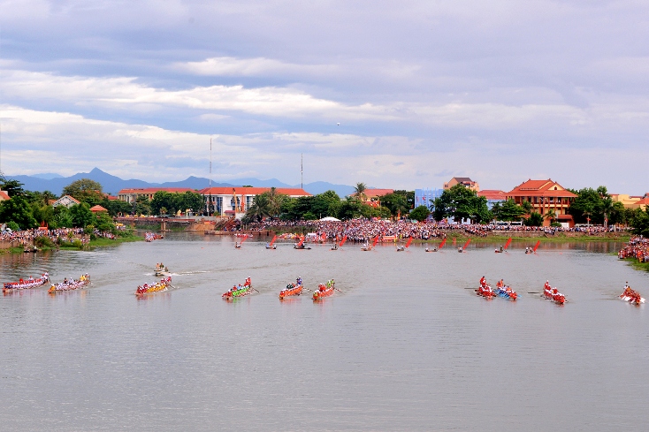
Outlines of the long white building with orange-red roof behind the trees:
{"label": "long white building with orange-red roof behind the trees", "polygon": [[[255,203],[256,195],[270,190],[270,187],[206,187],[198,193],[205,197],[205,208],[210,215],[241,217]],[[311,196],[300,188],[277,187],[275,191],[291,198]]]}

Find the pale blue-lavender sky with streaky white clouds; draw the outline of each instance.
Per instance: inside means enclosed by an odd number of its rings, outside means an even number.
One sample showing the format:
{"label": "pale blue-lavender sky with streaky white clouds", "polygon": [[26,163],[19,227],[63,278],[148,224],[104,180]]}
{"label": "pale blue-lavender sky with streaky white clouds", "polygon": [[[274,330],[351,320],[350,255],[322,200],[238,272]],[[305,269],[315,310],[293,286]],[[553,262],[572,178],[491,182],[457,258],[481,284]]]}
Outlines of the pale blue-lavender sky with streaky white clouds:
{"label": "pale blue-lavender sky with streaky white clouds", "polygon": [[646,1],[0,0],[5,175],[649,192]]}

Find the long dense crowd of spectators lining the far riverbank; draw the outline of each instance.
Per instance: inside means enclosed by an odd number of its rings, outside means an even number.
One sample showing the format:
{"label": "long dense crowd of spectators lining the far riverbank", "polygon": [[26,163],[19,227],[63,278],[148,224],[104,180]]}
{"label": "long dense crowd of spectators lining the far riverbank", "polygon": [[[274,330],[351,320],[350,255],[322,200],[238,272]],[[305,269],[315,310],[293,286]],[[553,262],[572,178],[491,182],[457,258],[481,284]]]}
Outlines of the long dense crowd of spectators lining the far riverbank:
{"label": "long dense crowd of spectators lining the far riverbank", "polygon": [[[242,228],[242,227],[241,227]],[[286,230],[307,229],[321,238],[323,234],[327,239],[340,239],[347,236],[351,241],[368,241],[379,237],[396,237],[405,239],[431,239],[446,237],[447,232],[462,231],[472,236],[486,237],[491,232],[507,234],[508,232],[542,232],[554,235],[559,232],[581,232],[584,235],[597,235],[607,231],[614,231],[611,227],[608,230],[601,225],[588,227],[579,226],[573,228],[524,226],[524,225],[497,225],[497,224],[447,224],[445,222],[426,221],[423,223],[410,222],[407,220],[368,220],[352,219],[348,221],[281,221],[267,220],[259,223],[246,225],[250,231],[264,230]]]}

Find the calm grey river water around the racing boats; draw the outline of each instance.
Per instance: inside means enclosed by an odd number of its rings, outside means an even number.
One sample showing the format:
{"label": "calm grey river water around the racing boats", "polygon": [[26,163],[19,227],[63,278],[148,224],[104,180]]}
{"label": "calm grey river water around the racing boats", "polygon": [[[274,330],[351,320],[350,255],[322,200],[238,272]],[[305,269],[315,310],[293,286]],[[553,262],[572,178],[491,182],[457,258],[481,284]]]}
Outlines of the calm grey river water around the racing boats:
{"label": "calm grey river water around the racing boats", "polygon": [[[608,243],[362,252],[178,233],[0,258],[2,281],[92,285],[0,297],[3,430],[645,430],[649,275]],[[174,289],[137,299],[164,262]],[[478,298],[501,277],[515,302]],[[259,293],[224,301],[251,277]],[[314,303],[279,301],[335,278]],[[546,279],[566,295],[541,299]]]}

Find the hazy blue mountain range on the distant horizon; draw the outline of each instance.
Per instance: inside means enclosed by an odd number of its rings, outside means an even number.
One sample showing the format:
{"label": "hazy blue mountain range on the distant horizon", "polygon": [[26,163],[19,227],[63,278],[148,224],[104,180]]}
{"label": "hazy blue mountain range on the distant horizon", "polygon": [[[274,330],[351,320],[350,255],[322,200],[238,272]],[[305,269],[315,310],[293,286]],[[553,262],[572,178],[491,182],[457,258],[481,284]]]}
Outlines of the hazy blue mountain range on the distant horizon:
{"label": "hazy blue mountain range on the distant horizon", "polygon": [[[100,183],[103,187],[103,192],[111,193],[116,195],[122,189],[130,188],[145,188],[145,187],[190,187],[192,189],[203,189],[210,186],[209,178],[200,178],[200,177],[188,177],[185,180],[181,181],[169,181],[164,183],[149,183],[144,180],[130,179],[123,180],[116,176],[113,176],[107,172],[104,172],[98,168],[94,168],[90,172],[79,172],[70,177],[61,177],[58,174],[48,173],[48,174],[36,174],[35,176],[10,176],[14,180],[18,180],[22,183],[28,191],[50,191],[60,195],[63,192],[63,188],[68,186],[75,180],[80,178],[90,178]],[[271,178],[270,180],[260,180],[258,178],[236,178],[231,180],[230,183],[218,183],[212,181],[213,187],[232,187],[232,186],[243,186],[250,185],[256,187],[300,187],[300,185],[291,186],[279,181],[277,178]],[[304,185],[304,190],[308,193],[323,193],[328,190],[333,190],[344,197],[349,193],[354,192],[352,186],[347,185],[333,185],[332,183],[327,183],[324,181],[317,181],[314,183],[309,183]]]}

